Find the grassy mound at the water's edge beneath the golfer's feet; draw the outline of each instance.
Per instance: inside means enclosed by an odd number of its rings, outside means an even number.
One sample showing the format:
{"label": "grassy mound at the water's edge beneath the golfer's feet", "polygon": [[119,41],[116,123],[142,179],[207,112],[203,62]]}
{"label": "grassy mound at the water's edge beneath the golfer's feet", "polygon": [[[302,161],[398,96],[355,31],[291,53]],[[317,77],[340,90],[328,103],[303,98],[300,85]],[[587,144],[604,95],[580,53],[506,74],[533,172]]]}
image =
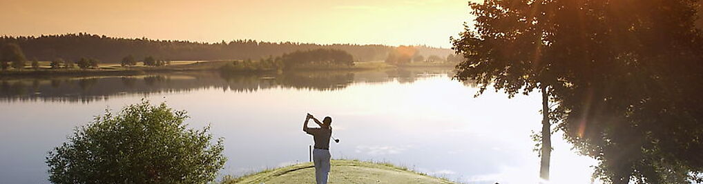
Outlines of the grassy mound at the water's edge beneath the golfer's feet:
{"label": "grassy mound at the water's edge beneath the golfer's feet", "polygon": [[[346,159],[335,159],[331,164],[329,183],[453,183],[392,164]],[[225,177],[221,183],[315,183],[315,168],[307,162],[238,178]]]}

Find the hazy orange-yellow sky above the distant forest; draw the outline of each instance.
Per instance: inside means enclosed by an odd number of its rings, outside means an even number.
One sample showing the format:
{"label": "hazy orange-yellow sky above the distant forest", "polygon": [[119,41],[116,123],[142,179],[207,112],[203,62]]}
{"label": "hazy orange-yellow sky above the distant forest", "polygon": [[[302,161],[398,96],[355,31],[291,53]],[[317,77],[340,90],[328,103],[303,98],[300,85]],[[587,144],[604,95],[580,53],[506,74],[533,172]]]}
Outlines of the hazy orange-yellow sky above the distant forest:
{"label": "hazy orange-yellow sky above the distant forest", "polygon": [[0,35],[88,32],[190,41],[427,44],[448,48],[468,0],[0,0]]}

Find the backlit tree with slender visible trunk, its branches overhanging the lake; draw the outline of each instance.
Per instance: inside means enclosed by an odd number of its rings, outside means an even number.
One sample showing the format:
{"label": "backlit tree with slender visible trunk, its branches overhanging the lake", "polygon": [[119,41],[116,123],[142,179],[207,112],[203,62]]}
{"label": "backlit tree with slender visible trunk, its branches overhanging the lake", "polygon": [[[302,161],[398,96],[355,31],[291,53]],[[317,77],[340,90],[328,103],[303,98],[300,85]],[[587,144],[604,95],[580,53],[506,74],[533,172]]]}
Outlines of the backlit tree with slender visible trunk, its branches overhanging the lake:
{"label": "backlit tree with slender visible trunk, its branches overhanging the lake", "polygon": [[[551,155],[550,86],[559,84],[561,70],[550,67],[554,60],[544,50],[553,31],[550,9],[555,1],[487,0],[471,3],[475,24],[465,25],[453,49],[462,60],[455,79],[475,81],[482,94],[488,86],[503,90],[512,98],[539,89],[542,96],[541,133],[536,136],[541,157],[540,178],[549,180]],[[428,59],[432,60],[432,59]]]}

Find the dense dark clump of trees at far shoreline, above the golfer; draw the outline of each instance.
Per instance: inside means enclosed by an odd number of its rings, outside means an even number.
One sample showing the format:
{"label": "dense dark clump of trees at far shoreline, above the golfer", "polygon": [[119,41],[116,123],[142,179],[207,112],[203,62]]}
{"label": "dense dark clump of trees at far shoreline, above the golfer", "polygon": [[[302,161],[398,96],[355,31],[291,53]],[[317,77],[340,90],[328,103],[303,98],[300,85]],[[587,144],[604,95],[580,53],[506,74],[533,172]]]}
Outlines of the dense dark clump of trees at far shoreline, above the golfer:
{"label": "dense dark clump of trees at far shoreline, above the golfer", "polygon": [[285,70],[314,67],[352,67],[354,57],[339,49],[318,48],[285,53],[281,57]]}

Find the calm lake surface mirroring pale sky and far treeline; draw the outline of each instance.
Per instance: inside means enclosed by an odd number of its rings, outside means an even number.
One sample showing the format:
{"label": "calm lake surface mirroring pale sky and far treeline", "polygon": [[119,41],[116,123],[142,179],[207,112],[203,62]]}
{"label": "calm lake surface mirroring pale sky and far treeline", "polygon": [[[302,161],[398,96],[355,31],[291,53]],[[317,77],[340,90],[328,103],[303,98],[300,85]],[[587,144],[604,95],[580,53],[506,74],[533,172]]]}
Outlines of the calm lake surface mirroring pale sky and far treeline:
{"label": "calm lake surface mirroring pale sky and far treeline", "polygon": [[[226,168],[241,175],[307,162],[305,113],[333,117],[333,158],[373,160],[463,183],[536,183],[541,98],[452,81],[450,70],[222,76],[155,74],[0,80],[0,183],[48,183],[46,152],[105,108],[142,98],[187,110],[191,127],[224,137]],[[591,183],[593,159],[553,136],[553,183]],[[333,169],[334,171],[334,169]]]}

